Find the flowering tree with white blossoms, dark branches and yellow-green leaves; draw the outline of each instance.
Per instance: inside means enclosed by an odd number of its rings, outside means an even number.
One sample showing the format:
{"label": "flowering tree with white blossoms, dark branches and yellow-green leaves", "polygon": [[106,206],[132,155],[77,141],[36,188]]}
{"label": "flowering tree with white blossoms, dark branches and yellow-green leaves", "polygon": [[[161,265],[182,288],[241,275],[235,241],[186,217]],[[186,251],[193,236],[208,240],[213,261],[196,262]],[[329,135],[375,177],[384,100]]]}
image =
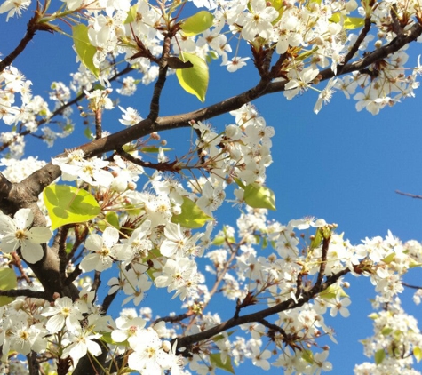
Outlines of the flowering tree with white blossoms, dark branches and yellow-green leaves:
{"label": "flowering tree with white blossoms, dark branches and yellow-green leaves", "polygon": [[[329,347],[320,340],[334,337],[323,316],[348,315],[343,276],[350,274],[370,277],[379,308],[375,334],[364,343],[375,362],[355,372],[418,373],[411,369],[422,358],[422,335],[397,295],[402,275],[422,263],[421,245],[391,234],[352,245],[323,219],[268,221],[267,210],[275,210],[265,186],[274,129],[250,103],[313,89],[318,113],[338,90],[357,100],[357,110],[376,115],[413,96],[422,70],[419,61],[405,68],[405,50],[422,34],[422,5],[6,0],[0,13],[9,21],[32,6],[25,36],[0,61],[0,117],[3,129],[9,126],[0,134],[7,156],[0,173],[3,372],[205,374],[233,372],[244,361],[286,374],[330,371]],[[69,86],[52,83],[52,109],[15,67],[37,31],[71,34],[80,61]],[[259,83],[193,112],[162,116],[169,79],[205,100],[212,60],[234,73],[253,62]],[[154,84],[143,99],[146,118],[110,99],[115,90],[124,100],[139,84]],[[104,132],[112,109],[123,112],[125,128]],[[203,123],[223,114],[233,116],[224,131]],[[88,143],[50,163],[23,158],[29,136],[53,146],[90,121]],[[161,138],[177,128],[192,130],[187,151],[166,148]],[[242,209],[237,228],[216,227],[226,196]],[[309,228],[311,236],[302,232]],[[258,248],[265,248],[260,256]],[[142,300],[157,288],[180,301],[181,314],[152,315]],[[219,292],[233,311],[227,321],[209,311]],[[118,294],[123,307],[141,307],[140,314],[113,307]],[[252,307],[258,302],[266,307]],[[233,334],[236,327],[243,336]]]}

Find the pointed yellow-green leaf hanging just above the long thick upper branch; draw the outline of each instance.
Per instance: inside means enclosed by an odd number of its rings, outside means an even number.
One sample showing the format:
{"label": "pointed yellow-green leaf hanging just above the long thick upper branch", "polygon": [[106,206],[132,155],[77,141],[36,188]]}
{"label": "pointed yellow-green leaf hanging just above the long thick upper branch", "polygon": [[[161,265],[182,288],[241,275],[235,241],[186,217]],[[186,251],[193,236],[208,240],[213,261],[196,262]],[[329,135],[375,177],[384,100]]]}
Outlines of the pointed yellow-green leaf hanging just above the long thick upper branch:
{"label": "pointed yellow-green leaf hanging just above the long thick upper branch", "polygon": [[190,61],[194,65],[192,68],[176,70],[180,86],[202,102],[205,101],[210,78],[207,63],[200,57],[187,52],[180,54],[180,60]]}

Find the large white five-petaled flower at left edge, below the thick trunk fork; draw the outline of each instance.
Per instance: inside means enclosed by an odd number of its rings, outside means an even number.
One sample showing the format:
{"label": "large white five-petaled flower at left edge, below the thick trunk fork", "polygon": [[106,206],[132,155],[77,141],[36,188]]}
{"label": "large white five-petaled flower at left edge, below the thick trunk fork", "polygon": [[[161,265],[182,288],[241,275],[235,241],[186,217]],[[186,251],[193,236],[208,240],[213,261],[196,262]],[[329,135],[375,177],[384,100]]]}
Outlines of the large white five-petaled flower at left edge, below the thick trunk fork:
{"label": "large white five-petaled flower at left edge, below the thick trunk fork", "polygon": [[31,227],[34,214],[28,208],[17,211],[13,219],[0,214],[0,241],[4,252],[17,251],[20,248],[23,259],[36,263],[43,258],[40,243],[46,243],[52,237],[48,227]]}

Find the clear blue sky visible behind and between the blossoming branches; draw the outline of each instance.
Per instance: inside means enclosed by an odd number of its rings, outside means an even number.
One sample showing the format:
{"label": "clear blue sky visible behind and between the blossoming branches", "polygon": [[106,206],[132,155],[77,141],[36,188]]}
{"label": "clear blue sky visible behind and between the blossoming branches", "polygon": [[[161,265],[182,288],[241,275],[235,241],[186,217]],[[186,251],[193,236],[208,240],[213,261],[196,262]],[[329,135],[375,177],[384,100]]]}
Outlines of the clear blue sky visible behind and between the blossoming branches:
{"label": "clear blue sky visible behind and between the blossoming branches", "polygon": [[[27,13],[28,15],[29,13]],[[7,40],[0,44],[0,52],[7,55],[23,36],[27,19],[9,20],[2,15],[0,35]],[[69,29],[64,27],[66,31]],[[5,38],[4,38],[5,39]],[[33,82],[33,92],[47,96],[53,80],[69,82],[68,73],[76,71],[75,54],[70,49],[71,40],[66,36],[38,32],[28,51],[14,63]],[[420,45],[410,49],[410,61],[416,65]],[[211,83],[205,105],[223,100],[243,92],[258,82],[251,60],[248,66],[235,74],[213,62]],[[322,84],[323,87],[323,84]],[[141,115],[147,114],[147,101],[152,86],[139,87],[139,92],[123,107],[138,108]],[[273,139],[274,163],[267,172],[267,186],[276,194],[277,211],[270,218],[286,223],[290,219],[304,216],[323,218],[338,223],[338,232],[352,243],[359,243],[366,236],[386,235],[390,229],[402,240],[422,239],[422,201],[394,193],[395,190],[422,194],[422,126],[420,110],[422,92],[415,99],[404,100],[393,108],[385,108],[378,116],[362,111],[356,112],[354,100],[346,100],[342,92],[336,92],[329,106],[319,115],[313,112],[317,93],[305,92],[291,101],[276,93],[256,100],[254,104],[275,127]],[[146,100],[144,100],[146,99]],[[171,76],[163,92],[163,115],[186,112],[201,107],[193,96],[183,92]],[[122,129],[117,118],[120,111],[105,113],[105,128],[110,132]],[[229,117],[211,120],[222,129],[231,121]],[[0,125],[4,129],[5,125]],[[54,148],[45,148],[39,140],[28,142],[26,156],[38,155],[48,160],[64,148],[86,142],[82,131],[82,120],[76,118],[76,132],[70,138],[58,142]],[[186,140],[186,132],[163,133],[164,138]],[[43,152],[40,154],[39,150]],[[238,212],[230,204],[217,213],[219,223],[235,224]],[[420,283],[420,271],[412,270],[407,277],[410,283]],[[369,299],[374,297],[373,286],[367,279],[348,280],[352,283],[350,295],[351,316],[347,319],[330,320],[336,329],[338,346],[332,344],[330,361],[332,373],[352,373],[354,363],[362,363],[362,345],[359,339],[372,334]],[[147,304],[154,307],[153,290]],[[417,317],[420,307],[411,302],[411,293],[406,292],[404,306]],[[407,300],[407,302],[406,302]],[[162,307],[156,306],[158,310]],[[341,369],[341,370],[339,370]],[[239,374],[268,373],[249,365],[238,369]],[[271,373],[282,373],[279,369]]]}

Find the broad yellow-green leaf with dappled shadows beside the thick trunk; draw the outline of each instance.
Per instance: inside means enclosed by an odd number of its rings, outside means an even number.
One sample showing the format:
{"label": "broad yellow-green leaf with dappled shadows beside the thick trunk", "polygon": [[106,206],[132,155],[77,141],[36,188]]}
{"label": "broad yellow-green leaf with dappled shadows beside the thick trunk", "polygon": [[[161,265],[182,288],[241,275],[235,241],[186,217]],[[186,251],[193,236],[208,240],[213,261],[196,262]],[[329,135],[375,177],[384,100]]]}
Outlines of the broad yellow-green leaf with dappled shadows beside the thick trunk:
{"label": "broad yellow-green leaf with dappled shadows beside the thick trunk", "polygon": [[94,219],[101,211],[99,203],[84,189],[51,185],[45,187],[43,195],[45,207],[52,219],[52,230]]}

